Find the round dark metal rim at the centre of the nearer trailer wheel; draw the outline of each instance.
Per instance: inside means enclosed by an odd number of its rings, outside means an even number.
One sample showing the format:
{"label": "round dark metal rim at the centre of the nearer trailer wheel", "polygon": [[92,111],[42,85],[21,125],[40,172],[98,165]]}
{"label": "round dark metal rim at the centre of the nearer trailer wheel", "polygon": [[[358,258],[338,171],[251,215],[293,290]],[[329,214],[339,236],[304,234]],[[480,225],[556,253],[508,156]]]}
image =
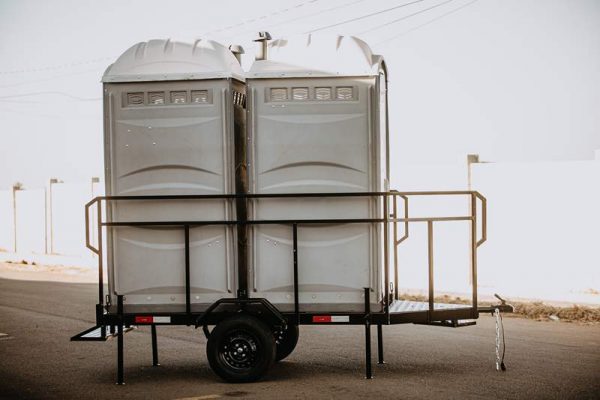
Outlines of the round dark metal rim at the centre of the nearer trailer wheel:
{"label": "round dark metal rim at the centre of the nearer trailer wheel", "polygon": [[230,368],[250,369],[259,357],[258,340],[246,331],[231,332],[224,338],[219,348],[219,357]]}

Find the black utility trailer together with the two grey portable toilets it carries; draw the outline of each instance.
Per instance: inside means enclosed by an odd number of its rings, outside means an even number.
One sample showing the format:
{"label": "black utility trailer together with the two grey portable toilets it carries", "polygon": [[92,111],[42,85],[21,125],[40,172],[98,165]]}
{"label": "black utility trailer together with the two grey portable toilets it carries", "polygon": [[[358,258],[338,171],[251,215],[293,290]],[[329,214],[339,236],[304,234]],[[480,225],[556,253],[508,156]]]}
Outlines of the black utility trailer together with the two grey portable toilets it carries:
{"label": "black utility trailer together with the two grey portable toilets it carries", "polygon": [[[116,337],[120,384],[136,326],[151,327],[154,365],[157,326],[200,327],[213,371],[250,382],[291,354],[300,325],[363,325],[371,378],[372,325],[382,363],[383,325],[460,327],[512,311],[478,307],[485,198],[389,188],[383,58],[353,37],[269,39],[259,36],[248,73],[238,47],[153,40],[104,75],[107,195],[85,207],[96,325],[71,340]],[[442,196],[464,198],[468,212],[409,212],[411,199]],[[471,303],[437,303],[434,227],[459,222],[470,229]],[[426,226],[427,301],[398,289],[412,224]]]}

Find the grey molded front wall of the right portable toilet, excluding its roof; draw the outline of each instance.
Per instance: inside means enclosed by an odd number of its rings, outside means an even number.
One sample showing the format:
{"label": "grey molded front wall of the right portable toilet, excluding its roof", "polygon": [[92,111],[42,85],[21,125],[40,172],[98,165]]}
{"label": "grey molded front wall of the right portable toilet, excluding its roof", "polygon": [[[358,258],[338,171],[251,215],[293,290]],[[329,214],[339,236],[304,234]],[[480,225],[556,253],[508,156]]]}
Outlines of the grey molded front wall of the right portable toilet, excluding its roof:
{"label": "grey molded front wall of the right portable toilet, excluding its roof", "polygon": [[[376,78],[248,80],[252,115],[249,138],[252,193],[370,192],[383,190],[377,160]],[[271,88],[308,88],[308,99],[273,101]],[[319,100],[316,88],[351,87],[353,95]],[[345,93],[348,93],[346,90]],[[385,165],[385,164],[384,164]],[[385,170],[385,169],[384,169]],[[377,218],[369,198],[260,199],[254,219]],[[286,309],[293,303],[291,226],[251,230],[252,296]],[[300,225],[298,281],[302,309],[363,310],[363,288],[380,299],[381,229],[372,224]]]}

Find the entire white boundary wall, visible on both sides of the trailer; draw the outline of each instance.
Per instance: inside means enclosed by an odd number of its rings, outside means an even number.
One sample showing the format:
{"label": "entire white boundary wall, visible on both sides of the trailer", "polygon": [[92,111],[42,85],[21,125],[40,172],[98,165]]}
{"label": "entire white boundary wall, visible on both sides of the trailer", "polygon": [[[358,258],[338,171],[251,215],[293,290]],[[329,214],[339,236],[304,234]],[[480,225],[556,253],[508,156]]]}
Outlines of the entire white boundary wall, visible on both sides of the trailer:
{"label": "entire white boundary wall, visible on both sides of the trailer", "polygon": [[[401,191],[467,189],[466,164],[413,165],[394,172],[392,188]],[[473,164],[472,183],[488,199],[488,241],[479,250],[481,294],[600,304],[600,295],[593,294],[600,291],[600,161]],[[96,184],[92,195],[91,181],[52,185],[55,253],[96,265],[85,248],[84,205],[102,194],[102,187]],[[468,197],[410,203],[411,217],[469,211]],[[44,189],[17,191],[17,214],[19,257],[44,253]],[[0,222],[0,248],[11,251],[10,190],[0,191]],[[426,239],[426,224],[415,223],[399,247],[402,290],[427,288]],[[437,293],[470,292],[468,246],[468,223],[434,225]]]}

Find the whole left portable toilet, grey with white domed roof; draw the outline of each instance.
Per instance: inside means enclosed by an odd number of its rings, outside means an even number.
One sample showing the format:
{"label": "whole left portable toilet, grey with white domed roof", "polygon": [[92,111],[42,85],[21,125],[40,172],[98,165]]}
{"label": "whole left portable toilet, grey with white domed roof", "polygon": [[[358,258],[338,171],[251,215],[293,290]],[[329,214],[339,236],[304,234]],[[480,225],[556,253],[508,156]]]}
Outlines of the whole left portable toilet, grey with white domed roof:
{"label": "whole left portable toilet, grey with white domed roof", "polygon": [[[245,98],[245,87],[229,49],[205,40],[138,43],[102,80],[107,195],[235,193],[234,103]],[[240,129],[243,120],[236,123]],[[234,210],[228,200],[112,201],[107,220],[226,220]],[[125,295],[125,306],[140,311],[183,310],[182,227],[107,231],[111,295]],[[235,296],[236,257],[233,228],[190,228],[194,309]]]}

